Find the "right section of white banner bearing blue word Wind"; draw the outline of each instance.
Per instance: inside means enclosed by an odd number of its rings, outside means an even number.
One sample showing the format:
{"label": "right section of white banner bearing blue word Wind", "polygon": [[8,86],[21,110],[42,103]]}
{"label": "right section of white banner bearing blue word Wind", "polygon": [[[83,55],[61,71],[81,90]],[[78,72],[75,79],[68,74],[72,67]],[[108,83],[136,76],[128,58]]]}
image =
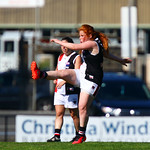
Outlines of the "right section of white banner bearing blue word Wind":
{"label": "right section of white banner bearing blue word Wind", "polygon": [[102,141],[150,142],[150,117],[101,118]]}

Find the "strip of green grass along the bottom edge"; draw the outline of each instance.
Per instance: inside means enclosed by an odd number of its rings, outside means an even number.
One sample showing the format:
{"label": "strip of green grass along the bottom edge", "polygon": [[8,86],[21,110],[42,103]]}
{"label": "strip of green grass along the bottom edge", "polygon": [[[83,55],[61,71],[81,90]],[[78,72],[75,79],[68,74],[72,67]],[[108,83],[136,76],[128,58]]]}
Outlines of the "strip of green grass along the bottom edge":
{"label": "strip of green grass along the bottom edge", "polygon": [[150,150],[150,143],[85,142],[73,145],[60,143],[0,142],[0,150]]}

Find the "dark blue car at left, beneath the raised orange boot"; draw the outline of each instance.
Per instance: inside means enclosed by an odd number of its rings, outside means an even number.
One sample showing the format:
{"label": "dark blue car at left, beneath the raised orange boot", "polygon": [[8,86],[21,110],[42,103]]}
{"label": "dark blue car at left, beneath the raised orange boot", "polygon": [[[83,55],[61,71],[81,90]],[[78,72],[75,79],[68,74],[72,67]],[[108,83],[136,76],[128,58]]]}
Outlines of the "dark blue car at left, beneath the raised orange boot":
{"label": "dark blue car at left, beneath the raised orange boot", "polygon": [[[33,85],[29,72],[9,70],[0,73],[0,110],[31,109]],[[36,110],[50,110],[52,96],[47,80],[36,82]]]}

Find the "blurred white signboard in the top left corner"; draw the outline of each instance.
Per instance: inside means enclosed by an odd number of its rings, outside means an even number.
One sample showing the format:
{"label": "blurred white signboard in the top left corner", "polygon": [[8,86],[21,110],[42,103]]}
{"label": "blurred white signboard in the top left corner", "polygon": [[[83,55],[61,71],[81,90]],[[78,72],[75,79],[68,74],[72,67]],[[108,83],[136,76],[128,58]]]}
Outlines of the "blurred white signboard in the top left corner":
{"label": "blurred white signboard in the top left corner", "polygon": [[45,0],[0,0],[2,8],[43,7]]}

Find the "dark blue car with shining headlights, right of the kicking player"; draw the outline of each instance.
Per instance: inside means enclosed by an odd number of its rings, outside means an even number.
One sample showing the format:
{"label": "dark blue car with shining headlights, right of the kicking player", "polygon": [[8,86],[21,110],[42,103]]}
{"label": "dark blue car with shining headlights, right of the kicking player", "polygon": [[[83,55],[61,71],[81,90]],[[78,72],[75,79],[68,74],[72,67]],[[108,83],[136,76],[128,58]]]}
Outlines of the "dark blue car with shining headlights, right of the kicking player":
{"label": "dark blue car with shining headlights, right of the kicking player", "polygon": [[104,73],[90,107],[92,116],[149,116],[150,91],[144,81],[125,73]]}

